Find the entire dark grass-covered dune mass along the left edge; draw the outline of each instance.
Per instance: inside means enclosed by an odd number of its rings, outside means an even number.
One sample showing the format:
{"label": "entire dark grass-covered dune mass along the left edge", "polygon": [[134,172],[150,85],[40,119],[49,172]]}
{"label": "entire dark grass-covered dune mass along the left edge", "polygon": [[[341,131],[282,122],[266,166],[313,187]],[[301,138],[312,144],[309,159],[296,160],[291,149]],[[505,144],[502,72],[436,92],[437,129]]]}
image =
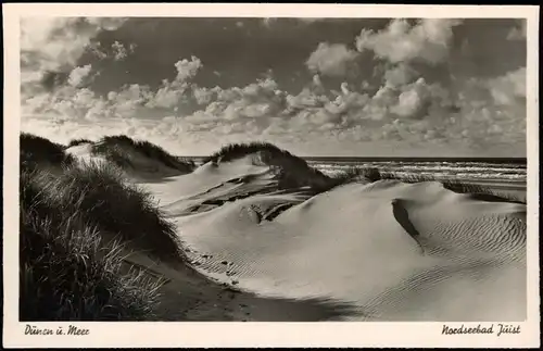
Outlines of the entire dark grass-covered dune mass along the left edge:
{"label": "entire dark grass-covered dune mass along the left edge", "polygon": [[155,319],[161,281],[123,260],[132,251],[185,259],[150,195],[111,164],[77,164],[43,138],[22,135],[21,160],[21,319]]}

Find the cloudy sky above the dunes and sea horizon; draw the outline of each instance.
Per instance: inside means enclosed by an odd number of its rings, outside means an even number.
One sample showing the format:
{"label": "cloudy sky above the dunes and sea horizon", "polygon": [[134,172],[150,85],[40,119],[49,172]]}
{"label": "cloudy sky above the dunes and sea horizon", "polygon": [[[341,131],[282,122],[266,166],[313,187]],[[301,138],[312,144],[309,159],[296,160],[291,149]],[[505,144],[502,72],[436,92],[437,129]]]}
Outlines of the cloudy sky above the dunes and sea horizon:
{"label": "cloudy sky above the dunes and sea horizon", "polygon": [[174,154],[526,156],[526,20],[25,17],[21,127]]}

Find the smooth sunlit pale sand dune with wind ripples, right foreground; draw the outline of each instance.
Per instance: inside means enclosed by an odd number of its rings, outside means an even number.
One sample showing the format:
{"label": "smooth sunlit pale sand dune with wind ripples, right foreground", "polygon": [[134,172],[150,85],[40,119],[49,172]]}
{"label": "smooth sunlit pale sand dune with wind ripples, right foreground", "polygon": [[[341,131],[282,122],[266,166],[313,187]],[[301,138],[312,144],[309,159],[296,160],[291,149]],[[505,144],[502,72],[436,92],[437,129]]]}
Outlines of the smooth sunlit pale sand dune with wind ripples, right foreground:
{"label": "smooth sunlit pale sand dune with wind ripples, right foreground", "polygon": [[[237,166],[220,167],[214,180],[226,183]],[[346,302],[358,312],[345,319],[526,316],[526,205],[393,180],[294,198],[252,196],[173,218],[199,272],[258,296]],[[281,203],[261,221],[257,209]]]}

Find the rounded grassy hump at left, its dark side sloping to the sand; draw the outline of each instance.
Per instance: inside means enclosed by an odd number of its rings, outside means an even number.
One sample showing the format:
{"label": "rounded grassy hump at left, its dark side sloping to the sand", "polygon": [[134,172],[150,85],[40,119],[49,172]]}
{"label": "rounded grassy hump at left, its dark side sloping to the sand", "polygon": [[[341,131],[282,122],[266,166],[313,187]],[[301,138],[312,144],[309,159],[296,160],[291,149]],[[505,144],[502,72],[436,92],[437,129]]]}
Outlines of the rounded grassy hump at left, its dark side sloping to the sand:
{"label": "rounded grassy hump at left, its dark side sloping to the sand", "polygon": [[181,260],[175,226],[166,221],[150,193],[125,181],[121,172],[100,163],[66,167],[47,185],[55,189],[62,211],[85,213],[101,229],[118,234],[123,242],[150,255],[175,262]]}

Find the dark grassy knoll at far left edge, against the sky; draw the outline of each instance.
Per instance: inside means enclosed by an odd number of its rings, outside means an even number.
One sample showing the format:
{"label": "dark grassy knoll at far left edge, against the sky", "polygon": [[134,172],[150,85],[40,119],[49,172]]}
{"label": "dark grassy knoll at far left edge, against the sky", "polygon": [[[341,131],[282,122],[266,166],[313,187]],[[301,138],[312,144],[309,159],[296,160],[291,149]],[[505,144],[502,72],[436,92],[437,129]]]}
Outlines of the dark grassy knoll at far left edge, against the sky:
{"label": "dark grassy knoll at far left edge, against the sky", "polygon": [[74,158],[64,152],[63,145],[49,139],[22,133],[20,136],[21,167],[36,167],[38,164],[62,166],[72,164]]}

